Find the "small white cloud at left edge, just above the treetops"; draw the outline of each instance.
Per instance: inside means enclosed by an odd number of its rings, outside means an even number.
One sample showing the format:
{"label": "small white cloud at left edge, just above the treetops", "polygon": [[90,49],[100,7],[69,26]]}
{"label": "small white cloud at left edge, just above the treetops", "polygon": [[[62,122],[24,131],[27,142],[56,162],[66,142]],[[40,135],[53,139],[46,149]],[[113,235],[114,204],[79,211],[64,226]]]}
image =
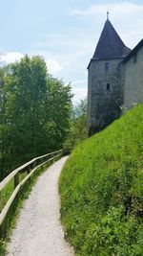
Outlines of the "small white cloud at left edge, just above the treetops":
{"label": "small white cloud at left edge, just above the treetops", "polygon": [[0,61],[6,64],[10,64],[12,62],[18,61],[23,58],[24,55],[18,52],[10,52],[4,55],[0,55]]}

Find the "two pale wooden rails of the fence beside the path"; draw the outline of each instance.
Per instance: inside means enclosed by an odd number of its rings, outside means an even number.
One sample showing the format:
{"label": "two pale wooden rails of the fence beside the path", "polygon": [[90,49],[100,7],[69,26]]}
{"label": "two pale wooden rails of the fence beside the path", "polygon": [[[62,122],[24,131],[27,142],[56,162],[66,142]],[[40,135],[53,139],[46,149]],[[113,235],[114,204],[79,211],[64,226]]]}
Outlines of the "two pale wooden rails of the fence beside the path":
{"label": "two pale wooden rails of the fence beside the path", "polygon": [[[36,158],[33,158],[31,161],[27,162],[26,164],[18,167],[17,169],[13,170],[10,175],[8,175],[1,183],[0,183],[0,193],[2,191],[2,189],[10,182],[12,177],[15,177],[16,175],[19,174],[20,171],[26,169],[26,167],[30,167],[31,164],[36,163],[37,160],[42,159],[43,163],[37,165],[36,167],[32,168],[31,172],[28,172],[28,175],[26,175],[26,177],[19,183],[19,179],[18,182],[14,188],[14,191],[12,192],[8,202],[6,203],[6,205],[4,206],[2,212],[0,213],[0,227],[3,224],[3,221],[5,221],[5,218],[10,210],[10,205],[13,202],[14,198],[16,198],[16,195],[18,194],[18,191],[20,190],[20,188],[26,183],[26,181],[31,177],[31,175],[42,165],[46,164],[47,162],[53,160],[56,156],[60,156],[63,153],[63,150],[60,151],[54,151],[51,153],[47,153],[41,156],[38,156]],[[44,161],[44,159],[46,159],[46,161]],[[36,163],[37,164],[37,163]],[[29,169],[30,171],[30,169]]]}

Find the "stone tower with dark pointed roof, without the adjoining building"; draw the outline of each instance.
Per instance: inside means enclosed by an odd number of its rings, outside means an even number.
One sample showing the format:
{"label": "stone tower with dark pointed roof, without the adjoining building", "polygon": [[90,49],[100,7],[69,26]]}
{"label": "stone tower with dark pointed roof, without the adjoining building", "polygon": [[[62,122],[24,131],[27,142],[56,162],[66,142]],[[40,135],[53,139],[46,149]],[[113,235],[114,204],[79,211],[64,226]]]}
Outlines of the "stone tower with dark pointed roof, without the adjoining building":
{"label": "stone tower with dark pointed roof, without the adjoining building", "polygon": [[120,116],[123,105],[120,63],[130,52],[107,18],[88,66],[89,136]]}

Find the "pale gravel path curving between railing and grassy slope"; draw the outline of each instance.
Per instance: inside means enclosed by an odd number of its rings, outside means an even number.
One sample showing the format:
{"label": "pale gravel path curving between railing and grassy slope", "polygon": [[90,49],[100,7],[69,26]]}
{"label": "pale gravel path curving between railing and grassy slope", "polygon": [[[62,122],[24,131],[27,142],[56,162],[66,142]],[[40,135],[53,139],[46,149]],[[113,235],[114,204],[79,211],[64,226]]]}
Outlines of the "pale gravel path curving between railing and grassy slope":
{"label": "pale gravel path curving between railing and grassy slope", "polygon": [[63,157],[38,178],[8,244],[9,256],[73,256],[60,223],[58,177]]}

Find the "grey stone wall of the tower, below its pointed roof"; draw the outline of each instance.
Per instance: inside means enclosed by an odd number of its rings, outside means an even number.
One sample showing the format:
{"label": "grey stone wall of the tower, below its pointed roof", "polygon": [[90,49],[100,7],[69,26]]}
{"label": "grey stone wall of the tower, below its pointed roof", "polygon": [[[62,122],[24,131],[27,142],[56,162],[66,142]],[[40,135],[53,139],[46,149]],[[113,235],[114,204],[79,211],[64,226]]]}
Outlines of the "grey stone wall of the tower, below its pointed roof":
{"label": "grey stone wall of the tower, below its pointed roof", "polygon": [[123,105],[120,61],[121,59],[92,58],[90,62],[88,68],[89,136],[107,127],[120,116],[120,105]]}

